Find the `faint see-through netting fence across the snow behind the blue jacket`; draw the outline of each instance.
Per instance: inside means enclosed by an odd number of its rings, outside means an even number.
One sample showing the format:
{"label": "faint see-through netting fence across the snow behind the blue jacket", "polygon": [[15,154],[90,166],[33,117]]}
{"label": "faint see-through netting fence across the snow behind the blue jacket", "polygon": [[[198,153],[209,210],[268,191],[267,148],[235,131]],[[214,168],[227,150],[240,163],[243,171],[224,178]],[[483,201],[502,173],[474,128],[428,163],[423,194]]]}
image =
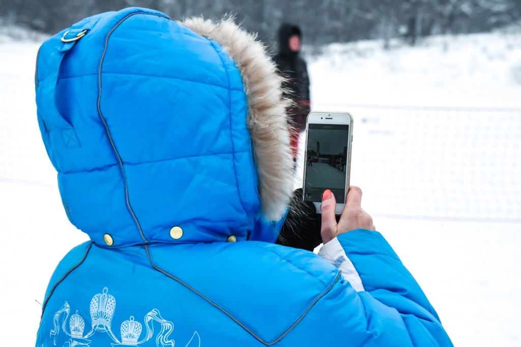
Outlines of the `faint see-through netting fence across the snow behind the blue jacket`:
{"label": "faint see-through netting fence across the snow behind the blue jacket", "polygon": [[[351,183],[374,216],[521,224],[521,109],[315,106],[353,114]],[[2,182],[56,186],[28,75],[0,74]]]}

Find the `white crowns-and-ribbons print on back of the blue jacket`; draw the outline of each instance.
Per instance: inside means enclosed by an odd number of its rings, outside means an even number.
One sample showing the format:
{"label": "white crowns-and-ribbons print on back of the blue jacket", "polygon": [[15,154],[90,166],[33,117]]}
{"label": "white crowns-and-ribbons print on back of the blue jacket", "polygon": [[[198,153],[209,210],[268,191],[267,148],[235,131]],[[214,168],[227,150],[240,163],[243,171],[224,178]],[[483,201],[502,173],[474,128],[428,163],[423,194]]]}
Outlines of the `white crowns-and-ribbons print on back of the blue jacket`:
{"label": "white crowns-and-ribbons print on back of the blue jacket", "polygon": [[[142,340],[139,340],[141,332],[143,331],[143,325],[134,319],[134,316],[130,316],[128,320],[121,323],[120,333],[121,341],[114,335],[111,330],[112,319],[116,312],[116,298],[108,293],[108,288],[103,288],[101,293],[94,295],[90,304],[90,315],[92,330],[83,336],[85,329],[85,320],[79,314],[78,310],[69,319],[69,331],[67,331],[67,319],[69,318],[70,306],[67,301],[61,306],[54,314],[54,327],[50,332],[51,338],[53,338],[54,345],[58,343],[58,337],[61,333],[65,334],[65,341],[62,347],[70,346],[91,346],[91,343],[96,345],[95,333],[107,333],[110,339],[115,343],[111,343],[113,347],[116,346],[139,346],[154,337],[153,323],[160,324],[161,328],[155,339],[157,347],[173,347],[175,344],[174,340],[171,340],[170,334],[173,331],[173,323],[164,319],[159,310],[153,309],[148,312],[143,318],[146,335]],[[60,328],[63,331],[60,331]],[[157,329],[156,329],[157,331]],[[159,345],[160,344],[160,345]],[[197,331],[194,331],[192,338],[186,344],[186,347],[200,347],[201,338]]]}

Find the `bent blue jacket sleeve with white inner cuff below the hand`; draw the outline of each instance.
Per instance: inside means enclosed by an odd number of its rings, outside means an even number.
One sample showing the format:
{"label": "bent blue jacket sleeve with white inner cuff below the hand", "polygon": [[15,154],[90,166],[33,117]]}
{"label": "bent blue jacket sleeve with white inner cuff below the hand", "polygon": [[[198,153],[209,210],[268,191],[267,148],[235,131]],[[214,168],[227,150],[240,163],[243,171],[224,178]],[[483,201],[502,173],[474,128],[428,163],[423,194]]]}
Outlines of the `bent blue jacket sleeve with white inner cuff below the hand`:
{"label": "bent blue jacket sleeve with white inner cuff below the hand", "polygon": [[322,303],[334,302],[326,308],[336,316],[329,316],[330,324],[351,322],[347,335],[356,336],[360,345],[452,346],[424,292],[379,233],[358,229],[341,234],[319,255],[343,276],[328,293],[330,300]]}

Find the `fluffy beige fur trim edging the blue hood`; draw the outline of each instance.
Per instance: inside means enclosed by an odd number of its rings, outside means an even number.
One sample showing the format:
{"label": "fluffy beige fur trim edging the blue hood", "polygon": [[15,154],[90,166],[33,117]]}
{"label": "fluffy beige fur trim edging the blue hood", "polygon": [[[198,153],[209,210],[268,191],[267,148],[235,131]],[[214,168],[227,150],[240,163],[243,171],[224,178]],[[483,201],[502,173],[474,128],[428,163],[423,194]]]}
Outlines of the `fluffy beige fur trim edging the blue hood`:
{"label": "fluffy beige fur trim edging the blue hood", "polygon": [[179,22],[197,34],[217,42],[241,72],[247,95],[247,126],[259,176],[263,213],[279,221],[290,202],[293,185],[293,157],[286,110],[291,101],[283,97],[283,78],[256,35],[239,28],[233,18],[215,23],[203,18]]}

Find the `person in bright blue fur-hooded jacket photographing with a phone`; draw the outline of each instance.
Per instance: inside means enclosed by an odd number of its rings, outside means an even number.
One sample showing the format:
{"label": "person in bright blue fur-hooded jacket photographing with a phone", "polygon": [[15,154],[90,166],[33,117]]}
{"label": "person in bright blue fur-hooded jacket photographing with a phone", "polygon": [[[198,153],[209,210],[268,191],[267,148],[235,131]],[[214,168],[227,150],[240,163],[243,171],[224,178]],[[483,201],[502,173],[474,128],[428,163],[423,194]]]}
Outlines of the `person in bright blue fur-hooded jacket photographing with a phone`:
{"label": "person in bright blue fur-hooded jacket photographing with a phone", "polygon": [[70,222],[36,346],[451,346],[351,187],[318,254],[275,244],[294,173],[281,78],[224,19],[128,8],[42,44],[38,122]]}

